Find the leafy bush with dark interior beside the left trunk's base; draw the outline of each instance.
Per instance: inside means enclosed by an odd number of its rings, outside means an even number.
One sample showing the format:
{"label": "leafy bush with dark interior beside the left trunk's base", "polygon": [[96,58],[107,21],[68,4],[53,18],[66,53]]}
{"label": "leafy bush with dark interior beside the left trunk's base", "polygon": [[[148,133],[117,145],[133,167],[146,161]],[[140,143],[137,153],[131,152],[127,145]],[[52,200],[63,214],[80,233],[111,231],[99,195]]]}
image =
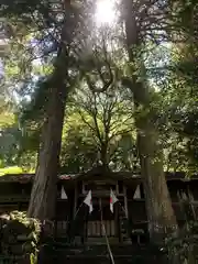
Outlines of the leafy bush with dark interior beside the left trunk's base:
{"label": "leafy bush with dark interior beside the left trunk's base", "polygon": [[[36,263],[37,244],[41,234],[41,223],[36,219],[28,218],[25,212],[12,211],[2,215],[1,221],[1,248],[4,256],[30,255],[30,260]],[[18,250],[14,250],[18,246]]]}

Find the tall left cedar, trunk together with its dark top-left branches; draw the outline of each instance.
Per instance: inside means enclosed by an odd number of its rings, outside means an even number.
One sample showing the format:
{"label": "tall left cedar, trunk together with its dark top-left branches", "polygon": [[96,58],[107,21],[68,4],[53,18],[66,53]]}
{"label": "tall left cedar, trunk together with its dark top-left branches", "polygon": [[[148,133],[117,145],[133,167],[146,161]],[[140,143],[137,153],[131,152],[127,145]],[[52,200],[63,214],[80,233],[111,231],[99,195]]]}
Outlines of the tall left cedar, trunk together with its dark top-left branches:
{"label": "tall left cedar, trunk together with its dark top-left branches", "polygon": [[[0,16],[4,18],[4,21],[11,21],[11,25],[12,23],[18,25],[21,22],[24,28],[26,26],[26,29],[31,29],[33,34],[35,33],[33,36],[35,40],[37,35],[41,36],[40,44],[42,41],[44,42],[44,38],[46,41],[47,35],[48,44],[53,41],[56,47],[55,52],[57,52],[56,58],[54,58],[53,73],[45,78],[40,89],[41,92],[38,92],[42,95],[42,106],[40,107],[42,111],[44,109],[45,113],[43,116],[42,140],[28,215],[40,220],[53,219],[55,213],[62,130],[65,103],[69,90],[68,51],[73,41],[74,28],[76,26],[73,11],[70,0],[59,2],[2,0],[0,6]],[[56,14],[61,15],[55,19]],[[4,30],[8,37],[15,37],[16,32],[10,33],[10,29],[15,28],[10,26],[9,23],[6,24]],[[52,30],[54,30],[53,33]],[[46,53],[46,51],[44,52]],[[41,98],[38,99],[41,101]]]}

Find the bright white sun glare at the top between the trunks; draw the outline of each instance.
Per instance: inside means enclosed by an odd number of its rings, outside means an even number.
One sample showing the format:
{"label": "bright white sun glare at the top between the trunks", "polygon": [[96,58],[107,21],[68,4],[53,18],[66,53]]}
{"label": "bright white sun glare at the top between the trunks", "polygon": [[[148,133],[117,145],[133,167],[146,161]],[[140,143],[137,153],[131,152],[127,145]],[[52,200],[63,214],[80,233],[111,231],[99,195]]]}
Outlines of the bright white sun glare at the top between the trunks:
{"label": "bright white sun glare at the top between the trunks", "polygon": [[113,24],[116,20],[114,0],[98,0],[96,9],[97,25]]}

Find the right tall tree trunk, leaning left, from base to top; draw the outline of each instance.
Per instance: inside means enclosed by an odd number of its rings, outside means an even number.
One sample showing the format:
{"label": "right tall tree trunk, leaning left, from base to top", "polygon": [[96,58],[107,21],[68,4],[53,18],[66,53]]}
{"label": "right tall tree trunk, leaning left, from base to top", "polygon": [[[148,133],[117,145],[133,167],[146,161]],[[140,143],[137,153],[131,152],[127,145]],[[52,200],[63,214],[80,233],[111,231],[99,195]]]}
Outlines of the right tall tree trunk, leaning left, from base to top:
{"label": "right tall tree trunk, leaning left, from base to top", "polygon": [[[136,57],[135,52],[141,44],[141,32],[136,24],[135,9],[131,0],[124,0],[123,3],[130,62],[140,65],[141,61],[140,57]],[[139,69],[142,77],[145,77],[144,65],[141,65]],[[136,117],[138,148],[141,160],[141,175],[144,179],[148,231],[153,241],[162,242],[164,234],[177,230],[177,222],[164,175],[158,132],[152,123],[151,92],[146,82],[138,79],[138,76],[131,77],[130,88],[133,91],[136,107],[141,109],[142,113]]]}

